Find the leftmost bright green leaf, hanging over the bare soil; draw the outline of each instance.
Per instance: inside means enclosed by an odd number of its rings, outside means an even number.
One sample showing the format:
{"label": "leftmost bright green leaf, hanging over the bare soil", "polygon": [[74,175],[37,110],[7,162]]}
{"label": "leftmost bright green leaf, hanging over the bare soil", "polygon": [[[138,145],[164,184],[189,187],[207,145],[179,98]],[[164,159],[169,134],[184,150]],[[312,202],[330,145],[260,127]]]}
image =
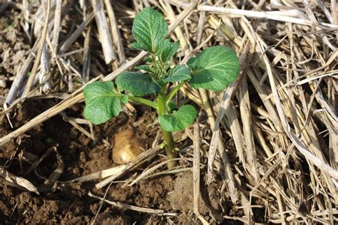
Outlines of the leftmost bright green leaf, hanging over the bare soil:
{"label": "leftmost bright green leaf, hanging over the bare soil", "polygon": [[121,101],[116,96],[113,88],[114,84],[111,81],[97,81],[86,85],[83,89],[86,102],[83,114],[87,120],[98,125],[120,113]]}

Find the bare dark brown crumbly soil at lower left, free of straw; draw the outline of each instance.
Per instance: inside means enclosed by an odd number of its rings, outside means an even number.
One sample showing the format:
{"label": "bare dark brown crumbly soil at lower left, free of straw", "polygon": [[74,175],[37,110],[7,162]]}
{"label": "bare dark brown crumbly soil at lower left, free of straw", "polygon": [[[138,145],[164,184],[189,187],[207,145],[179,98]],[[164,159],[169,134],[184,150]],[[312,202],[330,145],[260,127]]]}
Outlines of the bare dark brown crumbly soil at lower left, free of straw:
{"label": "bare dark brown crumbly soil at lower left, free of straw", "polygon": [[[20,127],[34,115],[45,110],[46,100],[27,101],[14,120],[14,127]],[[76,116],[81,112],[81,105],[66,110],[68,116]],[[145,111],[139,117],[126,115],[114,118],[105,125],[96,126],[98,142],[93,145],[89,137],[63,121],[59,115],[43,122],[21,137],[19,143],[10,142],[0,147],[0,163],[7,171],[16,176],[24,177],[36,187],[46,187],[44,179],[39,178],[34,171],[26,172],[30,164],[19,162],[19,153],[29,152],[41,157],[52,146],[58,146],[58,153],[63,158],[65,169],[61,181],[81,177],[85,174],[98,172],[113,167],[111,147],[114,133],[118,130],[128,129],[133,122],[143,120],[143,125],[138,127],[138,137],[145,145],[153,141],[153,134],[158,128],[147,126],[153,123],[152,113]],[[77,115],[78,116],[78,115]],[[11,131],[8,122],[1,120],[0,136]],[[145,138],[148,137],[148,138]],[[106,141],[101,141],[106,139]],[[39,164],[37,174],[48,177],[57,167],[55,155],[50,155]],[[132,177],[136,172],[140,174],[142,168],[137,169],[121,180]],[[21,223],[46,223],[78,224],[89,223],[96,215],[100,202],[88,197],[88,192],[103,196],[103,190],[95,189],[96,182],[58,184],[55,192],[43,192],[40,195],[26,192],[15,187],[0,184],[0,224]],[[158,216],[155,214],[142,214],[136,211],[119,209],[108,204],[103,204],[97,221],[103,224],[168,224],[170,221],[180,224],[196,224],[198,221],[189,211],[193,209],[193,175],[183,172],[176,175],[163,175],[153,179],[138,182],[132,187],[123,187],[124,183],[116,183],[108,191],[107,199],[112,201],[143,206],[153,209],[178,212],[178,216]],[[189,188],[187,188],[189,187]],[[200,211],[206,213],[208,209],[201,204]]]}

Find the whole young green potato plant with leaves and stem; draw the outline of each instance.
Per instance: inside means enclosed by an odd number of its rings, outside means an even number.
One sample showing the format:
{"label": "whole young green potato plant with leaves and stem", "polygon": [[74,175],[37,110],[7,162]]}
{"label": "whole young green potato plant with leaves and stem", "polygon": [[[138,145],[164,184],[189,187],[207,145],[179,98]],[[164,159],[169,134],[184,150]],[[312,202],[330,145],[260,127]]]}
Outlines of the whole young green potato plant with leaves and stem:
{"label": "whole young green potato plant with leaves and stem", "polygon": [[[112,81],[97,81],[86,85],[83,95],[86,101],[84,116],[98,125],[121,111],[121,103],[133,101],[154,108],[158,113],[158,123],[163,134],[168,159],[178,157],[172,132],[184,130],[195,121],[197,110],[193,105],[182,105],[176,110],[171,100],[185,83],[193,88],[220,91],[237,78],[239,62],[234,51],[225,46],[206,48],[186,65],[172,65],[170,59],[175,56],[180,43],[167,38],[168,24],[158,12],[150,7],[140,11],[133,21],[132,47],[147,51],[145,65],[137,66],[141,72],[123,72],[116,78],[118,92],[114,91]],[[175,88],[168,90],[168,84]],[[123,92],[124,91],[124,92]],[[146,95],[154,95],[148,100]],[[175,160],[168,167],[175,167]]]}

